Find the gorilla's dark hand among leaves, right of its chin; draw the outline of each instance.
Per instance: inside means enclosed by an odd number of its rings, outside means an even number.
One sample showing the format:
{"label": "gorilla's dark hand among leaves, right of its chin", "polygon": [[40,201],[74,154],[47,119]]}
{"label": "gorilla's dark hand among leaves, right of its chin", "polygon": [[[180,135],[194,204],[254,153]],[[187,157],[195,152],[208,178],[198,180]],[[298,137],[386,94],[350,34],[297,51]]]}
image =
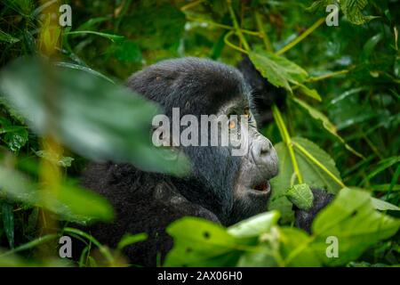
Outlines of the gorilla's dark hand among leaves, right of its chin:
{"label": "gorilla's dark hand among leaves, right of its chin", "polygon": [[333,195],[324,190],[311,189],[314,195],[313,207],[308,210],[302,210],[293,206],[294,213],[296,216],[296,226],[304,231],[311,232],[311,224],[316,217],[316,214],[323,208],[325,208],[333,199]]}

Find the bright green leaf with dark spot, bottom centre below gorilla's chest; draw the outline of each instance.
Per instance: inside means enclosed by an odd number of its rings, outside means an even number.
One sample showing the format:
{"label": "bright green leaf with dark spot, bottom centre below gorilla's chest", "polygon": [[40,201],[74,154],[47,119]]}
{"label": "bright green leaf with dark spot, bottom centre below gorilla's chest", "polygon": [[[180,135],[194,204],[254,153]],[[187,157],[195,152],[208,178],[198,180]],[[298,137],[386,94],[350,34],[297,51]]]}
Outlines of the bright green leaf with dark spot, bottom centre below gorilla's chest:
{"label": "bright green leaf with dark spot, bottom centre below gorilla's chest", "polygon": [[234,266],[240,256],[237,240],[219,224],[183,217],[168,226],[173,248],[165,266]]}

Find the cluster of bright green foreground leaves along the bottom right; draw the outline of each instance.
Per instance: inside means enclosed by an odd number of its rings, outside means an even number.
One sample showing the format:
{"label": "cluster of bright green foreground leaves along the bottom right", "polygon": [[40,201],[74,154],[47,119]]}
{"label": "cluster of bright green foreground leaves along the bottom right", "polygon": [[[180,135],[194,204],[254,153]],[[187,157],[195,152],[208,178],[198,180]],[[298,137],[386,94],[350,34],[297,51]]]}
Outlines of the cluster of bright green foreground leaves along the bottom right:
{"label": "cluster of bright green foreground leaves along the bottom right", "polygon": [[[399,219],[372,207],[367,191],[348,188],[316,216],[311,235],[298,228],[279,227],[278,217],[277,212],[268,212],[228,229],[204,219],[184,217],[167,229],[174,247],[165,265],[346,265],[400,227]],[[336,256],[327,254],[332,238],[338,242]]]}

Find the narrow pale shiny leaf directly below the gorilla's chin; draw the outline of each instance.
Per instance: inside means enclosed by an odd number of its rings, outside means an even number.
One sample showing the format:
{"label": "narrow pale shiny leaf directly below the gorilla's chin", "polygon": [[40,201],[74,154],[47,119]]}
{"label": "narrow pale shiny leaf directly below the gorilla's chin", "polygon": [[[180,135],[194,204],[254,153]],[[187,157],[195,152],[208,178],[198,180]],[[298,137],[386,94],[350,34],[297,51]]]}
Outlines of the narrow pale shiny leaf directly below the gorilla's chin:
{"label": "narrow pale shiny leaf directly below the gorilla's chin", "polygon": [[228,232],[236,238],[257,237],[263,232],[269,232],[271,227],[276,225],[278,219],[278,211],[262,213],[231,225]]}

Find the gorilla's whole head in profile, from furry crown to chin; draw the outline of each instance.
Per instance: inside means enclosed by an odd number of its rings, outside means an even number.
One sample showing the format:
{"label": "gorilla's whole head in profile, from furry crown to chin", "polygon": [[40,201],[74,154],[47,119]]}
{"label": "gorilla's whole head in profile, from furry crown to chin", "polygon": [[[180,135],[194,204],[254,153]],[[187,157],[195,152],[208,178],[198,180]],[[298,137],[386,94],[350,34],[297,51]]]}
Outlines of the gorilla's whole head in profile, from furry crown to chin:
{"label": "gorilla's whole head in profile, from furry crown to chin", "polygon": [[[181,143],[175,147],[192,163],[188,177],[172,178],[188,200],[211,210],[225,225],[266,210],[269,179],[278,171],[276,151],[257,130],[251,90],[237,69],[196,58],[162,61],[134,74],[128,86],[161,104],[171,128],[172,117],[176,119],[172,109],[179,108],[180,119],[191,115],[180,121],[181,135],[188,126],[198,124],[196,135],[188,135],[191,139],[197,136],[198,145]],[[217,141],[212,125],[220,130]],[[205,132],[204,126],[208,126]],[[223,144],[227,134],[228,144]],[[232,134],[239,134],[236,141],[231,139]],[[176,139],[173,137],[174,142]],[[235,142],[241,142],[240,146]],[[237,149],[244,151],[234,154]]]}

